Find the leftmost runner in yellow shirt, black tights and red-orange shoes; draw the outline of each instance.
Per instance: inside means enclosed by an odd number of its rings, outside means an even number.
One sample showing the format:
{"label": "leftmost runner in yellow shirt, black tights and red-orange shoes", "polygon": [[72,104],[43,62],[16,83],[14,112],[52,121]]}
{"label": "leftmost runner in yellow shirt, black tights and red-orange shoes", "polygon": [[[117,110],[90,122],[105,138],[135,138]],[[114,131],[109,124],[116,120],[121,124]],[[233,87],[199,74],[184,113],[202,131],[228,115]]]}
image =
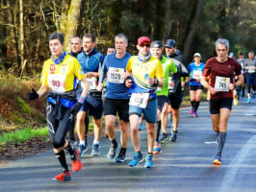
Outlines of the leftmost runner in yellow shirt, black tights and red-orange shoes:
{"label": "leftmost runner in yellow shirt, black tights and red-orange shoes", "polygon": [[[70,180],[64,150],[71,156],[73,172],[82,169],[79,152],[72,149],[67,139],[66,132],[70,129],[74,113],[82,106],[87,96],[89,84],[85,78],[78,60],[66,55],[64,51],[64,35],[53,33],[49,37],[51,58],[43,63],[41,86],[36,92],[32,89],[29,93],[29,100],[35,100],[47,94],[47,125],[53,144],[55,156],[59,159],[63,173],[54,177],[53,180]],[[74,82],[76,79],[82,81],[83,91],[81,97],[76,101]]]}

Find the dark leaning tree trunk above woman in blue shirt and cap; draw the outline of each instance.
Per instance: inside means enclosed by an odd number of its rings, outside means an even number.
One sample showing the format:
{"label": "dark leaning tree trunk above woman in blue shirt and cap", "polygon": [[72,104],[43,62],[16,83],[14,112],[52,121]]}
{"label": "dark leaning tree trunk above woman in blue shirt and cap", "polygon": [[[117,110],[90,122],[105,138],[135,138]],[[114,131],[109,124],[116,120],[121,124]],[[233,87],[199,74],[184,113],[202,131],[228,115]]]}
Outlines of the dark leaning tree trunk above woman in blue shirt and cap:
{"label": "dark leaning tree trunk above woman in blue shirt and cap", "polygon": [[191,52],[191,48],[192,48],[192,39],[193,39],[193,37],[198,29],[198,26],[199,26],[200,13],[202,11],[202,7],[203,7],[203,0],[197,0],[195,11],[192,14],[192,22],[191,22],[189,34],[184,43],[183,55],[184,55],[184,59],[186,60],[185,61],[186,63],[188,63],[188,61],[189,61],[189,56],[190,56],[190,52]]}

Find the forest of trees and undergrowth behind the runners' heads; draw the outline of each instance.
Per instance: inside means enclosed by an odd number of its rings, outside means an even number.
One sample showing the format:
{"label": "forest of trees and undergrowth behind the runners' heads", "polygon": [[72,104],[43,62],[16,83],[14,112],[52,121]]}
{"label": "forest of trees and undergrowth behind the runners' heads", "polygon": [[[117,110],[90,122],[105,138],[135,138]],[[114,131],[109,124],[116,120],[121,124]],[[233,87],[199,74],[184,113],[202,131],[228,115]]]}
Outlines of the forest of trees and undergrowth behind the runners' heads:
{"label": "forest of trees and undergrowth behind the runners' heads", "polygon": [[214,56],[218,37],[246,56],[256,50],[255,11],[255,0],[0,0],[0,70],[18,77],[38,74],[50,57],[53,32],[64,33],[67,51],[72,36],[93,33],[105,54],[123,33],[132,54],[139,36],[176,39],[186,65],[195,52],[203,61]]}

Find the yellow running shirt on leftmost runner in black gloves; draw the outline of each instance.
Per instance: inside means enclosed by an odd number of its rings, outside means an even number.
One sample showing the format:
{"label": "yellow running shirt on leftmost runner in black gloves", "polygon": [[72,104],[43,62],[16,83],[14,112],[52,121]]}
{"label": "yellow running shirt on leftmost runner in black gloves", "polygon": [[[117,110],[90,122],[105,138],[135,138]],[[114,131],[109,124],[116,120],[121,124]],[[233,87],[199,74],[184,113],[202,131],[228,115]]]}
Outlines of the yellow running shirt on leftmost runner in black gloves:
{"label": "yellow running shirt on leftmost runner in black gloves", "polygon": [[40,82],[48,85],[54,92],[64,93],[73,90],[77,79],[82,80],[84,77],[85,73],[78,60],[65,55],[60,64],[55,64],[51,59],[44,61]]}

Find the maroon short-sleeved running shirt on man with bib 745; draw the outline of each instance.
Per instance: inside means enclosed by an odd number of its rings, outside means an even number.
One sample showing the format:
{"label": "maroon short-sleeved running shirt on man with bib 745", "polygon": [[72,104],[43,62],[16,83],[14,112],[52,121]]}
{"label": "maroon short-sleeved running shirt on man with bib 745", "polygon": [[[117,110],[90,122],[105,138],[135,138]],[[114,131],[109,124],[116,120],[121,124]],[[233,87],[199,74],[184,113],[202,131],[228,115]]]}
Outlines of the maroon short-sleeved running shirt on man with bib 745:
{"label": "maroon short-sleeved running shirt on man with bib 745", "polygon": [[[235,75],[241,74],[241,67],[236,60],[228,58],[224,62],[219,62],[216,57],[206,61],[203,77],[209,78],[209,84],[215,87],[217,77],[229,78],[230,84],[234,84]],[[231,90],[227,92],[219,91],[216,94],[211,94],[211,99],[218,98],[233,98]]]}

